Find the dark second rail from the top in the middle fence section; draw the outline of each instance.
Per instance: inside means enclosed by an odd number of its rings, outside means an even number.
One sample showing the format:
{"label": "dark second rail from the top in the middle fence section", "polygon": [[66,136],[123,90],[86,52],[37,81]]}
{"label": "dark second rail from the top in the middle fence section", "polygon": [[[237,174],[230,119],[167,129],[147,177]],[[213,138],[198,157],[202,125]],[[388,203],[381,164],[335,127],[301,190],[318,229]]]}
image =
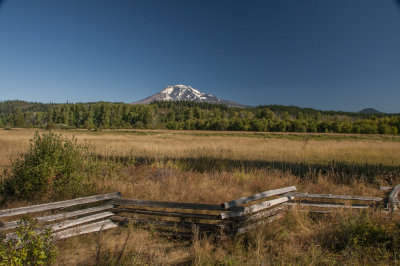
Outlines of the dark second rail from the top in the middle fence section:
{"label": "dark second rail from the top in the middle fence section", "polygon": [[220,215],[212,214],[200,214],[200,213],[181,213],[181,212],[162,212],[162,211],[151,211],[142,209],[131,209],[131,208],[114,208],[113,212],[130,212],[137,214],[156,215],[156,216],[167,216],[167,217],[179,217],[179,218],[190,218],[200,220],[221,220]]}

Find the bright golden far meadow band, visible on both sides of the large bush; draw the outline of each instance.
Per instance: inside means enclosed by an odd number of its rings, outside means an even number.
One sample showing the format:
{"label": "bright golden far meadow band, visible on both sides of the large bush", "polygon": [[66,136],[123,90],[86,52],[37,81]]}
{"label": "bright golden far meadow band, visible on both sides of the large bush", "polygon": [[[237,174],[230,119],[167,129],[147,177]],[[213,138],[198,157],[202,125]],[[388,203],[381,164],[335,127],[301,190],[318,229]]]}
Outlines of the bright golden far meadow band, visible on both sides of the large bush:
{"label": "bright golden far meadow band, visible on both sides of the large bush", "polygon": [[[0,130],[0,165],[9,163],[24,151],[35,130]],[[61,131],[74,135],[79,142],[93,145],[103,157],[146,158],[202,158],[273,161],[289,163],[326,164],[340,161],[354,164],[384,166],[400,165],[400,142],[353,138],[293,140],[287,134],[282,138],[255,138],[246,134],[235,136],[219,132],[216,135],[197,135],[195,132],[136,131],[118,134],[118,131]],[[338,135],[339,136],[339,135]],[[290,136],[289,136],[290,137]]]}

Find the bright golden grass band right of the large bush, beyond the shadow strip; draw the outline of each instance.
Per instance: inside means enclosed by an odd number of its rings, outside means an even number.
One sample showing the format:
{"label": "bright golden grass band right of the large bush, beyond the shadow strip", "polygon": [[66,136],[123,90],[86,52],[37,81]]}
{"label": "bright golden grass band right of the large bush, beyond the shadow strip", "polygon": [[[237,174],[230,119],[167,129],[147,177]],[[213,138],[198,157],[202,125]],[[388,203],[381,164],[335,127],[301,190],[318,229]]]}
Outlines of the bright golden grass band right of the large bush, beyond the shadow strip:
{"label": "bright golden grass band right of the large bush, beyond the shadow strip", "polygon": [[152,135],[77,135],[103,156],[151,158],[199,158],[322,163],[400,165],[400,143],[388,141],[261,139],[232,136],[195,136],[160,133]]}

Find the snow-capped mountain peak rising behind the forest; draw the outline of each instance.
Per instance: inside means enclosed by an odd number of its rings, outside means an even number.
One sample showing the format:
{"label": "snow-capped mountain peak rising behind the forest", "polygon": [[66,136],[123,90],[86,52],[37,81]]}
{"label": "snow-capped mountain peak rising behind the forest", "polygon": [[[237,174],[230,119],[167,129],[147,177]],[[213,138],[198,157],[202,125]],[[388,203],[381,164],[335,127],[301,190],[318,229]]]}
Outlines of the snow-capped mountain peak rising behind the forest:
{"label": "snow-capped mountain peak rising behind the forest", "polygon": [[219,99],[217,96],[200,92],[190,86],[174,85],[168,86],[159,93],[151,95],[134,104],[149,104],[154,101],[195,101],[216,104],[226,104],[228,106],[244,107],[244,105]]}

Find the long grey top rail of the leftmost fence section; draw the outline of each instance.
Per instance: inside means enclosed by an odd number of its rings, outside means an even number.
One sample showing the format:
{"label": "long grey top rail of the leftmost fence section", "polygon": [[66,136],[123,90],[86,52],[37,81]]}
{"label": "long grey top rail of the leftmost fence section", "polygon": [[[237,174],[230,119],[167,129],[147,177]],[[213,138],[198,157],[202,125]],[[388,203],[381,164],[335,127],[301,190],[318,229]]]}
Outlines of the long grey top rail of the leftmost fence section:
{"label": "long grey top rail of the leftmost fence section", "polygon": [[95,196],[90,196],[90,197],[85,197],[85,198],[78,198],[78,199],[73,199],[73,200],[64,200],[64,201],[57,201],[57,202],[40,204],[40,205],[32,205],[32,206],[27,206],[27,207],[0,210],[0,218],[21,215],[21,214],[27,214],[27,213],[33,213],[33,212],[48,211],[48,210],[59,209],[59,208],[67,208],[67,207],[72,207],[72,206],[76,206],[76,205],[87,204],[87,203],[92,203],[92,202],[97,202],[97,201],[116,199],[119,197],[121,197],[121,193],[117,192],[117,193],[110,193],[110,194],[104,194],[104,195],[95,195]]}

